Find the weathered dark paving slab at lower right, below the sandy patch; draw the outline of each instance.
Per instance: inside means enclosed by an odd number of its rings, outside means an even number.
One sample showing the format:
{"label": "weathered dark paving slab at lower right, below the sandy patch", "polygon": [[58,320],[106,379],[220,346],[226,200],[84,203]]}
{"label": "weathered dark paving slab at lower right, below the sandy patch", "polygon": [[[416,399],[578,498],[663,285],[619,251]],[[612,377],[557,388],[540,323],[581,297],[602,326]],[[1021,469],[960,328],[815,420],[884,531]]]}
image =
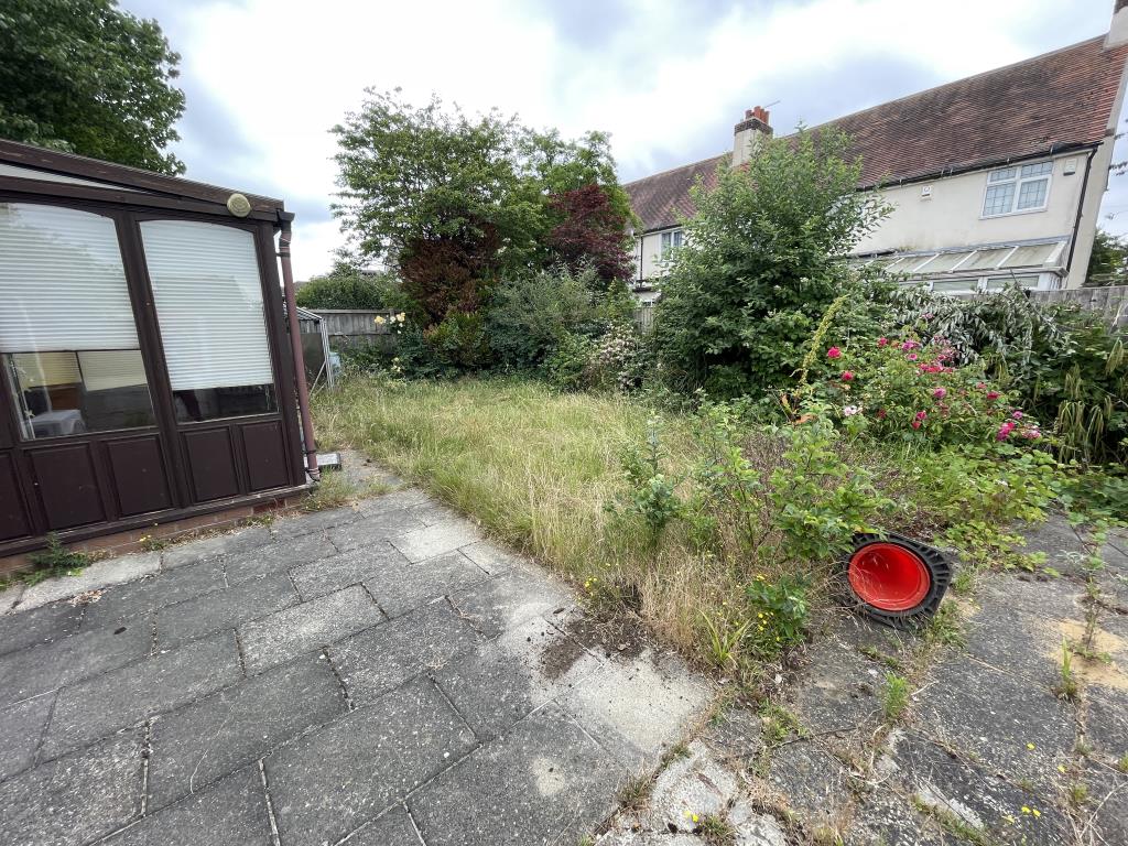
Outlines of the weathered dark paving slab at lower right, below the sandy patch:
{"label": "weathered dark paving slab at lower right, below the sandy patch", "polygon": [[1046,688],[959,656],[928,673],[914,714],[925,737],[1043,790],[1052,787],[1058,765],[1068,764],[1074,747],[1074,714],[1067,703]]}

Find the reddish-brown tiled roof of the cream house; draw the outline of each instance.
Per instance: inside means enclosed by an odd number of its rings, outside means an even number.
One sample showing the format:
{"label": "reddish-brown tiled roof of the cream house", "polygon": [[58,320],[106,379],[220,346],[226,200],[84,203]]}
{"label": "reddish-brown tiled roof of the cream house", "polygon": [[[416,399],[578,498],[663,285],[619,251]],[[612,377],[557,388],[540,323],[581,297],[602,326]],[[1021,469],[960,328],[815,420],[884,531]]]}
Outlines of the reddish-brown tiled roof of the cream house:
{"label": "reddish-brown tiled roof of the cream house", "polygon": [[[860,187],[1099,143],[1105,135],[1128,45],[1104,36],[855,112],[822,126],[854,139]],[[814,127],[816,130],[820,127]],[[689,188],[715,180],[725,152],[624,186],[643,229],[694,213]]]}

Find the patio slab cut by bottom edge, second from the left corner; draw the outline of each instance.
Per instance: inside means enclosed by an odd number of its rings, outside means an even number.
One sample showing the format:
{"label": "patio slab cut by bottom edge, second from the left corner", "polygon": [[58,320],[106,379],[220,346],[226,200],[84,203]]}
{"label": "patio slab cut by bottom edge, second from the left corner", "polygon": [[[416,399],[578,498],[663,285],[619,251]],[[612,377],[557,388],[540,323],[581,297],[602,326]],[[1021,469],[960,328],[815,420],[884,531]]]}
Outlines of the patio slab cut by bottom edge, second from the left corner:
{"label": "patio slab cut by bottom edge, second from the left corner", "polygon": [[99,846],[271,846],[271,821],[257,765],[153,813]]}

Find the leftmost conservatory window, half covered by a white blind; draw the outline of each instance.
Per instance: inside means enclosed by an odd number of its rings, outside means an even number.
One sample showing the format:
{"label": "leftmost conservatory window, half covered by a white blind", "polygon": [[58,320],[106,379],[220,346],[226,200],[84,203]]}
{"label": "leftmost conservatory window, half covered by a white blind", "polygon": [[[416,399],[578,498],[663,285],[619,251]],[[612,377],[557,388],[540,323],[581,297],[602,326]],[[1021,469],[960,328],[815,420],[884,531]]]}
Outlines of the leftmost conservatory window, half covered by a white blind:
{"label": "leftmost conservatory window, half covered by a white blind", "polygon": [[0,203],[0,353],[25,440],[153,424],[113,220]]}

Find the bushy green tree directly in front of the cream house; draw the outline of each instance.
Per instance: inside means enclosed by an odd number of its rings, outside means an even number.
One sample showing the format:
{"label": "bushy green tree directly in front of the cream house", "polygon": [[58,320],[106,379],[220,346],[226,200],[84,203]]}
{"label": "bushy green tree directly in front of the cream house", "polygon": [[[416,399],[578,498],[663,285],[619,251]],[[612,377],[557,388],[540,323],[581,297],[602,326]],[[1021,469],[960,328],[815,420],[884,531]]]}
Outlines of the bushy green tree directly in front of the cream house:
{"label": "bushy green tree directly in front of the cream house", "polygon": [[787,385],[827,307],[853,277],[845,257],[888,213],[857,192],[861,160],[836,130],[765,142],[747,166],[693,190],[697,214],[662,283],[654,342],[678,388],[720,395]]}

